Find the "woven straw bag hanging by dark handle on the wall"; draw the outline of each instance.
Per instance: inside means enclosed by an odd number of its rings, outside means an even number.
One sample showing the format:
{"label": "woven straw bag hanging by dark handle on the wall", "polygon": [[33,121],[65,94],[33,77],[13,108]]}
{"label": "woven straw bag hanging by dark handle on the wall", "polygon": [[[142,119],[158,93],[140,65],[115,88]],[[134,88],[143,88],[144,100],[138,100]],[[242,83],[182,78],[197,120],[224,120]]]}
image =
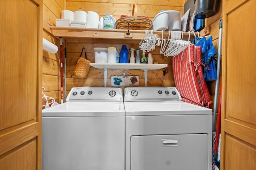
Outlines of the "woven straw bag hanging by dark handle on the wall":
{"label": "woven straw bag hanging by dark handle on the wall", "polygon": [[[83,50],[84,50],[84,53],[85,53],[85,58],[81,57],[82,53],[83,53]],[[89,61],[87,59],[86,51],[85,51],[85,48],[83,47],[82,52],[80,54],[80,58],[78,59],[78,61],[76,63],[76,68],[75,68],[74,73],[71,77],[84,79],[87,76],[87,74],[90,70],[90,63],[91,63],[91,61]]]}

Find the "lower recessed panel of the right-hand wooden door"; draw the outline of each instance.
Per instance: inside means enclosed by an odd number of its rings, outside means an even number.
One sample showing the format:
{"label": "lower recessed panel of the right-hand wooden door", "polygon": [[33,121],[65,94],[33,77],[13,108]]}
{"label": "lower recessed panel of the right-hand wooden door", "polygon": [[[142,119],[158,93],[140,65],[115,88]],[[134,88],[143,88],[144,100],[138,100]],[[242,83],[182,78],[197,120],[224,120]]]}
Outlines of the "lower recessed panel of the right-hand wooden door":
{"label": "lower recessed panel of the right-hand wooden door", "polygon": [[256,146],[230,134],[226,134],[225,141],[225,170],[255,170]]}

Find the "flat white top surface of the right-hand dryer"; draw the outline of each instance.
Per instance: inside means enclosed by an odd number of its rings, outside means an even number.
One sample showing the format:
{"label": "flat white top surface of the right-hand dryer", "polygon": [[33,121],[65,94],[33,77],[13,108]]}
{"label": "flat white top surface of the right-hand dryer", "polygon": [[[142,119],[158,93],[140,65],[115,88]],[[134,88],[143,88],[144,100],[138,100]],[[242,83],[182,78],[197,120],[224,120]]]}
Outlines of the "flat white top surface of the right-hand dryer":
{"label": "flat white top surface of the right-hand dryer", "polygon": [[139,115],[209,115],[212,109],[183,101],[124,102],[126,116]]}

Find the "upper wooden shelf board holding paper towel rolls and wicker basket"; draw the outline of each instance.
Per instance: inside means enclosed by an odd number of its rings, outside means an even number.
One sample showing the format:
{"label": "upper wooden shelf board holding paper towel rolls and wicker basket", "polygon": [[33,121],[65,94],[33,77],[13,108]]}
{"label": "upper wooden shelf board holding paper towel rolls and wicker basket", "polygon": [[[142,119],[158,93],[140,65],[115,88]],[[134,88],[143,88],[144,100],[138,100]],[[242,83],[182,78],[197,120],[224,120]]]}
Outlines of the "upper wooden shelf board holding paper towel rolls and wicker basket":
{"label": "upper wooden shelf board holding paper towel rolls and wicker basket", "polygon": [[[66,38],[98,38],[98,39],[118,39],[118,40],[142,40],[144,30],[129,30],[130,35],[126,35],[128,30],[118,29],[98,29],[98,28],[74,28],[74,27],[50,27],[51,32],[56,37]],[[154,34],[162,39],[162,31],[154,31]],[[164,38],[168,40],[168,31],[164,31]],[[188,40],[188,32],[183,33],[183,40]],[[190,40],[194,38],[191,34]]]}

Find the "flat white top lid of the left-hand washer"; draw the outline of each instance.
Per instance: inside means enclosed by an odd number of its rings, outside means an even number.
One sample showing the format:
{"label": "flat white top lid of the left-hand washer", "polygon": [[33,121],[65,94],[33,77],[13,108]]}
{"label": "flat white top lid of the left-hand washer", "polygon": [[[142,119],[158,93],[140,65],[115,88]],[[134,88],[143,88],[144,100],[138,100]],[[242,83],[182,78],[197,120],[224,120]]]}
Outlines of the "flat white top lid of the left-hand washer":
{"label": "flat white top lid of the left-hand washer", "polygon": [[66,102],[42,110],[42,117],[124,116],[121,102]]}

